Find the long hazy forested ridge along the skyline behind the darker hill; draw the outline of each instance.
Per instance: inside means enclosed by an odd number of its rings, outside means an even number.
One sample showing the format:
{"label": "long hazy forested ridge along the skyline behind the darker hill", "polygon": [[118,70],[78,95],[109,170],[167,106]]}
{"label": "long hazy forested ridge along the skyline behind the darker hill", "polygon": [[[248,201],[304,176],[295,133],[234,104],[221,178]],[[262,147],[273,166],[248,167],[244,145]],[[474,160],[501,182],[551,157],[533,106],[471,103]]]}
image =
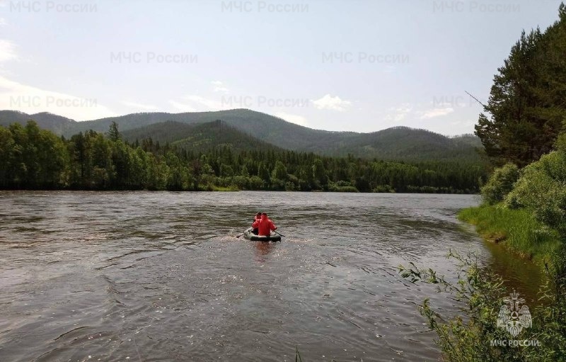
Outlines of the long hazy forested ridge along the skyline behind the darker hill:
{"label": "long hazy forested ridge along the skyline behind the darker hill", "polygon": [[[227,125],[231,125],[248,135],[253,135],[253,137],[264,142],[294,151],[315,152],[316,154],[330,156],[352,154],[355,157],[412,161],[429,159],[480,161],[476,148],[481,147],[481,144],[475,136],[449,138],[427,130],[404,127],[389,128],[388,130],[371,133],[313,130],[289,123],[272,115],[248,109],[175,114],[134,113],[85,122],[67,120],[67,118],[50,115],[49,113],[37,113],[27,115],[27,117],[24,113],[13,111],[2,111],[0,113],[0,125],[9,125],[13,122],[25,124],[27,119],[34,119],[41,128],[66,137],[86,130],[105,132],[112,122],[117,123],[121,132],[128,132],[136,128],[167,121],[195,124],[223,120]],[[57,120],[57,123],[48,122],[50,119]],[[164,132],[160,133],[163,137],[168,138],[169,142],[183,139],[182,137],[175,139],[177,137],[175,132],[171,135],[165,135]]]}

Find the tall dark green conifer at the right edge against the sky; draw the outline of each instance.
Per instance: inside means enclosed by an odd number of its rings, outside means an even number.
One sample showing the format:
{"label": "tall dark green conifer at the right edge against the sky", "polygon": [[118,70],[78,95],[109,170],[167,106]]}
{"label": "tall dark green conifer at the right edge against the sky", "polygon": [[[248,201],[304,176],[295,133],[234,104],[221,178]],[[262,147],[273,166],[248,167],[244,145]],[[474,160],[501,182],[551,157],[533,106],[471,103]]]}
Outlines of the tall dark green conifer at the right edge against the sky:
{"label": "tall dark green conifer at the right edge against the sky", "polygon": [[544,33],[524,32],[495,76],[475,133],[496,164],[525,166],[552,149],[566,119],[566,16]]}

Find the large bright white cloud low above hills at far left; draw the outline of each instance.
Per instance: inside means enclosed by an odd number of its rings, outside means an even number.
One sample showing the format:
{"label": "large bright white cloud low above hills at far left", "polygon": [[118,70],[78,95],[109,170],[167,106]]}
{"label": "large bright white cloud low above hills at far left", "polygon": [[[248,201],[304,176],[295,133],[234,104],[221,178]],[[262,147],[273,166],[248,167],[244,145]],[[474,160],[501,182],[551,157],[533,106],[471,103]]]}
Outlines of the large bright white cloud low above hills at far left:
{"label": "large bright white cloud low above hills at far left", "polygon": [[117,115],[96,98],[79,98],[27,86],[0,76],[0,109],[25,113],[50,112],[74,120],[93,120]]}

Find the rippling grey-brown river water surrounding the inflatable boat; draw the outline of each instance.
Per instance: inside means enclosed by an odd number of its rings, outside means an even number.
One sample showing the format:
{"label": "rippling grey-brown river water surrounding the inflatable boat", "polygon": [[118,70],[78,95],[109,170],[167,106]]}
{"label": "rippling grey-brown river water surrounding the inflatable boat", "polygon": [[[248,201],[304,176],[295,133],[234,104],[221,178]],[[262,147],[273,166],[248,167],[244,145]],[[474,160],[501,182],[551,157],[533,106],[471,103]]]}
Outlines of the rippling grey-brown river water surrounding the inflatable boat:
{"label": "rippling grey-brown river water surrounding the inflatable boat", "polygon": [[[0,361],[437,361],[397,266],[490,251],[475,196],[0,192]],[[236,238],[258,211],[286,235]],[[514,266],[515,268],[516,266]]]}

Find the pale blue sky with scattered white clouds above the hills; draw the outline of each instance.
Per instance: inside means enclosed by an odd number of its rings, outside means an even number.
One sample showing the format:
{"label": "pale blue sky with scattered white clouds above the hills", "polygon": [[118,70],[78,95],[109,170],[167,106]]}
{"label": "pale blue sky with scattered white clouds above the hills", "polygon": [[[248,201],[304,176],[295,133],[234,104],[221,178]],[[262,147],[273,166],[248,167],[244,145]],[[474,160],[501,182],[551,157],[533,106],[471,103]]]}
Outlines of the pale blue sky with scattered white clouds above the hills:
{"label": "pale blue sky with scattered white clouds above the hills", "polygon": [[0,109],[250,108],[309,128],[473,132],[560,0],[0,0]]}

